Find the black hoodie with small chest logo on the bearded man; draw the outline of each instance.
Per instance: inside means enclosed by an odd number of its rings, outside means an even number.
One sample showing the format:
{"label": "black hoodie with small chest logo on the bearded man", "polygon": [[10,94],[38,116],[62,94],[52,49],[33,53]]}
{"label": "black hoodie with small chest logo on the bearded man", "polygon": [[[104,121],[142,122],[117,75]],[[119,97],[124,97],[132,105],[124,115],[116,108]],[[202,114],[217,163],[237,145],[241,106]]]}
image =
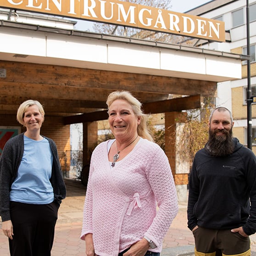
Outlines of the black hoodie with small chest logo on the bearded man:
{"label": "black hoodie with small chest logo on the bearded man", "polygon": [[195,154],[189,178],[188,227],[243,227],[256,232],[256,156],[234,138],[229,156]]}

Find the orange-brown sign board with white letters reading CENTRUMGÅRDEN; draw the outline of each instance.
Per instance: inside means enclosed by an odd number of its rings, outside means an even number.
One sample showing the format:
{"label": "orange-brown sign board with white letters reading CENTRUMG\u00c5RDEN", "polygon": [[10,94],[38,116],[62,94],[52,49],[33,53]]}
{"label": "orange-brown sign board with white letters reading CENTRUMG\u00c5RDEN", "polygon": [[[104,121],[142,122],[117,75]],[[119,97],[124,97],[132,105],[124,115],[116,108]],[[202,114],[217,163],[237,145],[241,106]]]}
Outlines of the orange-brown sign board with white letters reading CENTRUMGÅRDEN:
{"label": "orange-brown sign board with white letters reading CENTRUMG\u00c5RDEN", "polygon": [[117,0],[0,0],[0,7],[224,42],[224,22]]}

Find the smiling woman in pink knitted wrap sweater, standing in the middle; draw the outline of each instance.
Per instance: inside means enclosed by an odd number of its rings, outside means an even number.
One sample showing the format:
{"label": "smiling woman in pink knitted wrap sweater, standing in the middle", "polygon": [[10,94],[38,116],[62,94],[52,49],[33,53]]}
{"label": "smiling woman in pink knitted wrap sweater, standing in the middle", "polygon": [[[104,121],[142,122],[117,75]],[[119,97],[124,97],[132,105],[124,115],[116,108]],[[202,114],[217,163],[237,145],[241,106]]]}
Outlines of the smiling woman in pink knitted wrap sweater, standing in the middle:
{"label": "smiling woman in pink knitted wrap sweater, standing in the middle", "polygon": [[81,233],[86,255],[159,256],[178,212],[169,161],[147,130],[139,100],[117,91],[106,103],[115,139],[91,157]]}

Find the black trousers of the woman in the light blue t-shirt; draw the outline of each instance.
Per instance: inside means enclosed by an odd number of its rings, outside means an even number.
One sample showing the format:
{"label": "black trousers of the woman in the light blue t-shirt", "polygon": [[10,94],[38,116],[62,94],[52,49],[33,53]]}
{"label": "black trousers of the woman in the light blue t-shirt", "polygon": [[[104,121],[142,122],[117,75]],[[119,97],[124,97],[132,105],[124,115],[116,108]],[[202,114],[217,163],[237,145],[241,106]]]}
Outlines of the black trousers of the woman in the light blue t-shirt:
{"label": "black trousers of the woman in the light blue t-shirt", "polygon": [[59,205],[10,202],[13,239],[11,256],[50,256]]}

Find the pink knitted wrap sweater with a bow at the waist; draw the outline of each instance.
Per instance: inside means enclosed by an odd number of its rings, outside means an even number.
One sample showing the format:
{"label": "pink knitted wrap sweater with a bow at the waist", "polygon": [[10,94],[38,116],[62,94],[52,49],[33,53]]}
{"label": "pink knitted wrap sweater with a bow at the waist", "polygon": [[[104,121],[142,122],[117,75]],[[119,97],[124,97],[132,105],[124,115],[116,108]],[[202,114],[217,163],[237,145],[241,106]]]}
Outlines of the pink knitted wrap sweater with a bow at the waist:
{"label": "pink knitted wrap sweater with a bow at the waist", "polygon": [[167,156],[157,144],[140,139],[122,163],[110,167],[107,143],[92,154],[81,239],[92,233],[95,254],[117,256],[146,235],[157,245],[150,250],[161,252],[178,212]]}

